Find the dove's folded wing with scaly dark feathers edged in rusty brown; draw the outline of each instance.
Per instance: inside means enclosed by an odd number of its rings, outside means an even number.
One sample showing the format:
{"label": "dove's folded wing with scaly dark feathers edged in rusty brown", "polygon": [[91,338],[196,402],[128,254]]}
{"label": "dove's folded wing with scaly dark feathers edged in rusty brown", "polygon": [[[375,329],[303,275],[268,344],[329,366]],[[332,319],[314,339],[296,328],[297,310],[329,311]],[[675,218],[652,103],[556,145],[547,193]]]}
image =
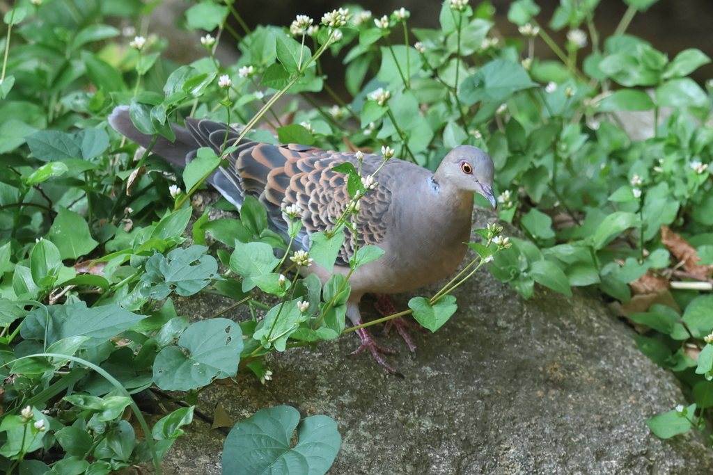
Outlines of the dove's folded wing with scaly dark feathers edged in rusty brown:
{"label": "dove's folded wing with scaly dark feathers edged in rusty brown", "polygon": [[[225,124],[195,119],[187,119],[185,123],[200,145],[220,150],[225,140]],[[229,145],[238,135],[235,130],[229,130]],[[347,177],[332,168],[344,162],[359,167],[352,152],[250,140],[243,140],[227,160],[229,167],[221,168],[223,174],[237,186],[243,197],[249,194],[265,205],[272,226],[285,237],[288,225],[282,209],[291,204],[302,209],[304,226],[294,242],[301,249],[309,249],[310,234],[332,229],[349,204]],[[373,174],[383,160],[379,155],[364,155],[362,174]],[[357,221],[359,246],[377,245],[386,238],[389,226],[386,212],[391,204],[391,190],[387,185],[381,184],[361,198]],[[356,239],[349,227],[344,229],[344,234],[346,239],[337,264],[348,266],[354,255]]]}

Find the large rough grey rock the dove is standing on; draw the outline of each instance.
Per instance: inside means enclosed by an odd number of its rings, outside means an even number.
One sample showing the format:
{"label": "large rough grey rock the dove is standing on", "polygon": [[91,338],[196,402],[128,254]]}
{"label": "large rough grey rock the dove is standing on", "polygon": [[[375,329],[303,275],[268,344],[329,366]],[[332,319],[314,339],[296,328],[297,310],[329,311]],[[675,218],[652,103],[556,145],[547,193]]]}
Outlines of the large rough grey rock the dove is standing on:
{"label": "large rough grey rock the dove is standing on", "polygon": [[[476,218],[485,227],[495,214],[476,209]],[[388,361],[405,379],[368,354],[349,356],[357,345],[350,333],[313,352],[270,355],[273,381],[213,385],[198,408],[212,414],[220,402],[235,420],[278,404],[302,417],[327,414],[342,434],[332,475],[713,473],[698,434],[664,441],[645,425],[686,401],[670,372],[632,348],[632,330],[596,294],[575,290],[567,298],[538,288],[525,301],[484,269],[455,294],[458,312],[441,330],[411,331],[415,358],[397,335],[377,335],[399,350]],[[394,303],[406,309],[415,295]],[[198,296],[177,304],[180,314],[205,318],[230,301]],[[369,305],[362,311],[377,316]],[[220,474],[224,440],[195,420],[163,473]]]}

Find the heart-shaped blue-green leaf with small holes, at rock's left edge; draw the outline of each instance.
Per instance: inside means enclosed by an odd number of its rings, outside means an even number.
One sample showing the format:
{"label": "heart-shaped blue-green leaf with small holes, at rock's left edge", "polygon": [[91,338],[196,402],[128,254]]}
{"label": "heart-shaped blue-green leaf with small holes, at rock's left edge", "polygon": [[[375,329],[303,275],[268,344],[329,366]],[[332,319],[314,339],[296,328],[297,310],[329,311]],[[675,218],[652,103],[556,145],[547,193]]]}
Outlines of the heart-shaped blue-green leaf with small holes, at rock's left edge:
{"label": "heart-shaped blue-green leaf with small holes, at rock's left edge", "polygon": [[240,325],[225,318],[193,323],[153,363],[153,381],[166,391],[188,391],[215,378],[235,377],[242,352]]}

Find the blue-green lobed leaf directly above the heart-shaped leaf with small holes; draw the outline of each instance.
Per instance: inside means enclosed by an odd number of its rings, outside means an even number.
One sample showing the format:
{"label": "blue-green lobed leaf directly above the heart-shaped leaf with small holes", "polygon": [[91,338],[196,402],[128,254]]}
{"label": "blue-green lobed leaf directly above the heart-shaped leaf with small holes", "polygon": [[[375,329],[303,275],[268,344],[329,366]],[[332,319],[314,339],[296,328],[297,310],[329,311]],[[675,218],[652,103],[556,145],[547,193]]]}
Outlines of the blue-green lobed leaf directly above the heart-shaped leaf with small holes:
{"label": "blue-green lobed leaf directly above the heart-shaped leaf with small holes", "polygon": [[167,256],[154,254],[146,261],[146,273],[141,281],[149,284],[141,295],[161,300],[172,291],[180,296],[192,296],[218,278],[218,264],[213,256],[203,254],[207,247],[193,245],[188,249],[173,249]]}

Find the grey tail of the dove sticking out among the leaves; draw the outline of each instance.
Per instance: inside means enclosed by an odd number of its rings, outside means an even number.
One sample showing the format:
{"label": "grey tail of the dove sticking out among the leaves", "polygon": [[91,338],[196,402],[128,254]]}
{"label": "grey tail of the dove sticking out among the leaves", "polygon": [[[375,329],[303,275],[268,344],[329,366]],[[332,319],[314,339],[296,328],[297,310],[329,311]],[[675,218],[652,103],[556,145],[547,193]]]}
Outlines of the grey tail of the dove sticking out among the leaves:
{"label": "grey tail of the dove sticking out among the leaves", "polygon": [[[131,118],[129,116],[128,105],[119,105],[114,108],[111,115],[109,115],[109,125],[114,128],[121,135],[124,135],[129,140],[138,143],[142,147],[148,147],[153,139],[152,135],[145,134],[138,130]],[[180,125],[172,125],[173,132],[176,135],[176,140],[170,142],[165,137],[158,136],[153,147],[151,147],[151,152],[156,155],[165,158],[169,162],[173,163],[181,168],[185,168],[186,157],[190,152],[195,152],[201,145],[193,138],[193,135],[185,127]]]}

